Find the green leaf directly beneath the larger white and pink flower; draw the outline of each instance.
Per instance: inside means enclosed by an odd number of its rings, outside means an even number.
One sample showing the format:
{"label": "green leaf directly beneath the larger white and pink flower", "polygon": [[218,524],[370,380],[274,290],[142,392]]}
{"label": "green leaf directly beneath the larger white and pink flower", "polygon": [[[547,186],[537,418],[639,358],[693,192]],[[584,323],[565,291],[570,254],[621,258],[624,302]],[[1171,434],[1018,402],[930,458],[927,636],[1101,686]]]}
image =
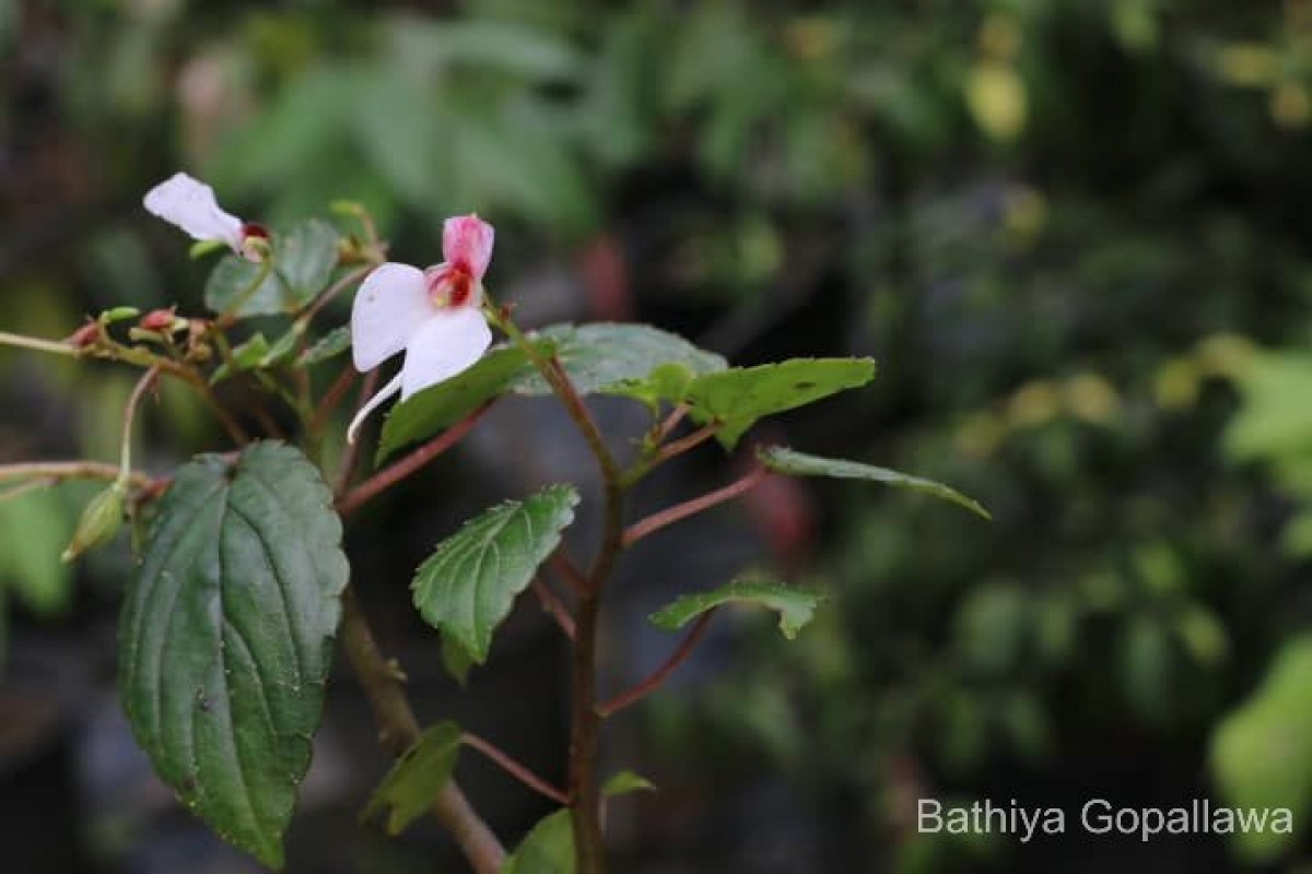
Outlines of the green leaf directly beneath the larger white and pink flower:
{"label": "green leaf directly beneath the larger white and pink flower", "polygon": [[[535,343],[550,355],[550,342]],[[383,460],[396,449],[419,443],[459,422],[487,401],[508,389],[529,363],[523,350],[516,346],[493,349],[478,364],[449,380],[432,385],[392,408],[383,423],[378,443],[378,459]]]}

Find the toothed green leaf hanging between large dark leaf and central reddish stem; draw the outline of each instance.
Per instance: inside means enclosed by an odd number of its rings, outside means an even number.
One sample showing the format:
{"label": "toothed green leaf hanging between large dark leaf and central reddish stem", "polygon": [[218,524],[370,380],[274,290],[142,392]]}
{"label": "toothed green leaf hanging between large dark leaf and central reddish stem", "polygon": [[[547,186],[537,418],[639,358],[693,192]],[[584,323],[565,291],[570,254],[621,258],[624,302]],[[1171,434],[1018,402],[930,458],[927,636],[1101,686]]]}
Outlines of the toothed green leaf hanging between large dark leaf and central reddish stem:
{"label": "toothed green leaf hanging between large dark leaf and central reddish stem", "polygon": [[415,574],[420,615],[483,664],[492,632],[555,552],[577,503],[573,486],[555,485],[470,519]]}

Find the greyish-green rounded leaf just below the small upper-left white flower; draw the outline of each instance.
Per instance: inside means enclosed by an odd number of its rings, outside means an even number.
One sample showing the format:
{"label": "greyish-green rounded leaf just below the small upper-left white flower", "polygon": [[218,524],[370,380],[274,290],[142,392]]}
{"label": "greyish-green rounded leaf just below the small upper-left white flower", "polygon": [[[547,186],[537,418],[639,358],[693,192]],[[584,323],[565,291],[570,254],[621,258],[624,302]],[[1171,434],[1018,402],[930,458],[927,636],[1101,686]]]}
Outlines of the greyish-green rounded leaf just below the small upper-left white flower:
{"label": "greyish-green rounded leaf just below the small upper-left white flower", "polygon": [[[323,291],[336,265],[337,231],[316,220],[300,224],[274,240],[273,270],[236,314],[297,312]],[[205,284],[205,305],[214,312],[227,311],[258,279],[262,269],[235,254],[223,258]]]}

